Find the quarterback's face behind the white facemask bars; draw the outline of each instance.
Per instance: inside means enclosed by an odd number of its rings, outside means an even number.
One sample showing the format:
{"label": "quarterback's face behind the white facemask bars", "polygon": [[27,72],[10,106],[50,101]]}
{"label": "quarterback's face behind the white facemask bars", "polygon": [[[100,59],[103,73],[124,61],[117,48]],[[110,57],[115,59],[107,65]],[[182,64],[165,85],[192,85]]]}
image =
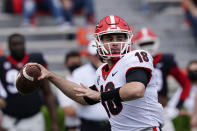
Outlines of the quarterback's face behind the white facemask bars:
{"label": "quarterback's face behind the white facemask bars", "polygon": [[102,42],[105,49],[112,54],[120,53],[121,49],[125,46],[126,35],[120,34],[106,34],[102,36]]}

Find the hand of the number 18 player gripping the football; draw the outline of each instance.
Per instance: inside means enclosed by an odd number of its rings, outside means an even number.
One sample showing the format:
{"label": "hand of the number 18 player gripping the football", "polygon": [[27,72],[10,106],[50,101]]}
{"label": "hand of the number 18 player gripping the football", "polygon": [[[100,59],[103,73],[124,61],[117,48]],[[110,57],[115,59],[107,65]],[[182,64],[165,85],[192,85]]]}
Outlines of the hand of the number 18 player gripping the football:
{"label": "hand of the number 18 player gripping the football", "polygon": [[41,64],[38,63],[27,63],[26,65],[34,65],[34,66],[38,66],[41,70],[41,75],[40,77],[38,77],[38,80],[43,80],[43,79],[47,79],[51,76],[51,72],[49,72],[44,66],[42,66]]}

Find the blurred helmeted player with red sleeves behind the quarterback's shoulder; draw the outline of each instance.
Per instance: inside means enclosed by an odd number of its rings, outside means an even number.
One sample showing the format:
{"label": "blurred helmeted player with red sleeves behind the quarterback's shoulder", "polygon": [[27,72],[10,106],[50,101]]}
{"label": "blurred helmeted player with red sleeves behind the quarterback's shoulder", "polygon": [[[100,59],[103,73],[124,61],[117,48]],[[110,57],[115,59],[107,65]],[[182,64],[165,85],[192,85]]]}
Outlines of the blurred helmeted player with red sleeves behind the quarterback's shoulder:
{"label": "blurred helmeted player with red sleeves behind the quarterback's shoulder", "polygon": [[[136,49],[147,50],[153,56],[153,64],[157,74],[156,81],[158,84],[157,90],[159,94],[159,102],[163,105],[163,107],[165,107],[165,112],[174,112],[170,113],[173,116],[169,117],[176,117],[176,115],[178,115],[178,109],[182,108],[185,99],[189,96],[191,83],[188,77],[178,67],[177,62],[175,61],[174,56],[172,54],[163,54],[159,52],[160,41],[152,30],[148,28],[140,29],[136,33],[134,40],[134,46]],[[178,102],[175,106],[176,108],[173,109],[167,107],[169,99],[169,85],[167,84],[167,77],[169,75],[173,76],[182,87],[181,95],[179,96]],[[165,114],[165,116],[168,116],[167,114]],[[169,129],[173,130],[173,125],[170,121],[171,120],[168,121]],[[165,127],[167,127],[168,122],[166,121]]]}

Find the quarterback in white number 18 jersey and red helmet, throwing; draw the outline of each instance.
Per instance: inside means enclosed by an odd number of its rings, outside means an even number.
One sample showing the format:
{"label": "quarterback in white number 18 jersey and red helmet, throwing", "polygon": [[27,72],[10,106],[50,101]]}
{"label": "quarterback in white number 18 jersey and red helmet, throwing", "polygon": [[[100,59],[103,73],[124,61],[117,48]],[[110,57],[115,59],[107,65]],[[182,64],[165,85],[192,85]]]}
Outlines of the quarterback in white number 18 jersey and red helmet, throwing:
{"label": "quarterback in white number 18 jersey and red helmet, throwing", "polygon": [[38,79],[48,79],[73,100],[85,105],[102,102],[112,131],[159,131],[164,124],[163,108],[158,102],[153,59],[147,51],[132,50],[132,37],[132,30],[119,16],[101,19],[95,40],[106,63],[97,69],[90,88],[65,80],[40,64],[29,65],[38,65],[42,72]]}

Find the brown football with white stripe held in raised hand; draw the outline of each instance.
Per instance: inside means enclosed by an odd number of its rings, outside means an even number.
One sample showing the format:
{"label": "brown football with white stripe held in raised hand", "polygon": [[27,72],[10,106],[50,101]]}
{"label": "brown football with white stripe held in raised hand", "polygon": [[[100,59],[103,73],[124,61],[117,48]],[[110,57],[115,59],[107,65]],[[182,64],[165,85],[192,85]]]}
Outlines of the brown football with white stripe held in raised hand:
{"label": "brown football with white stripe held in raised hand", "polygon": [[41,75],[40,68],[34,65],[26,65],[16,78],[16,88],[21,94],[31,94],[40,88],[41,82],[38,77]]}

